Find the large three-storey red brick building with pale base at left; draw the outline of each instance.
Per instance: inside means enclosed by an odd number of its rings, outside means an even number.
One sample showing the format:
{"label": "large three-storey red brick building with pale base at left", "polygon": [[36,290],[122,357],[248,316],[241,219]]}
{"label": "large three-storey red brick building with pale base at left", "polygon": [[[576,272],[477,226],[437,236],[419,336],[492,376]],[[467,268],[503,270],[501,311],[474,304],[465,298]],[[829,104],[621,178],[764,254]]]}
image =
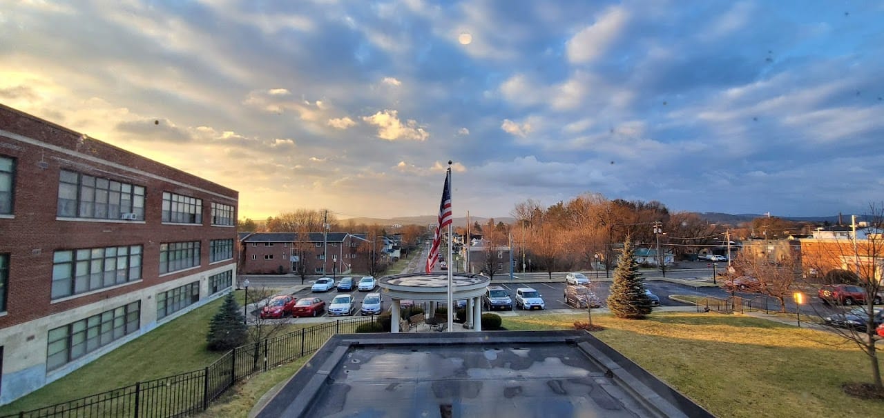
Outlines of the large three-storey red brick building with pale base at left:
{"label": "large three-storey red brick building with pale base at left", "polygon": [[229,290],[238,198],[0,105],[0,404]]}

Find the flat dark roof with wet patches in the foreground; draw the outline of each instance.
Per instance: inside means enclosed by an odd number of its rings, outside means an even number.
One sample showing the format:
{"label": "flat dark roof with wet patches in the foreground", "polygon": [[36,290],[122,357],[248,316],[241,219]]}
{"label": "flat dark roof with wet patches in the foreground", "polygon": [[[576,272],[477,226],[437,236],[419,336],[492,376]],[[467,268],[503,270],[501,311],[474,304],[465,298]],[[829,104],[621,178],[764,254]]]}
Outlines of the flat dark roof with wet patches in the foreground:
{"label": "flat dark roof with wet patches in the foreground", "polygon": [[341,334],[252,416],[712,417],[586,331]]}

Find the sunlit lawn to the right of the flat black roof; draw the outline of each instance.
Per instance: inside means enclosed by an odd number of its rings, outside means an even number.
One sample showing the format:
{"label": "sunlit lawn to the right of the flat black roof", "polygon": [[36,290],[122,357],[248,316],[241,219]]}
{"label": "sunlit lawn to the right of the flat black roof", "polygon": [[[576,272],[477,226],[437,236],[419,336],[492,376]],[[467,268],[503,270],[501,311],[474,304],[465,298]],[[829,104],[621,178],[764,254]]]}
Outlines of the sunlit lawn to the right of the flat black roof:
{"label": "sunlit lawn to the right of the flat black roof", "polygon": [[[503,326],[568,330],[585,317],[507,316]],[[713,313],[593,323],[606,328],[593,335],[720,417],[884,415],[884,402],[844,394],[844,383],[871,382],[869,360],[828,333]]]}

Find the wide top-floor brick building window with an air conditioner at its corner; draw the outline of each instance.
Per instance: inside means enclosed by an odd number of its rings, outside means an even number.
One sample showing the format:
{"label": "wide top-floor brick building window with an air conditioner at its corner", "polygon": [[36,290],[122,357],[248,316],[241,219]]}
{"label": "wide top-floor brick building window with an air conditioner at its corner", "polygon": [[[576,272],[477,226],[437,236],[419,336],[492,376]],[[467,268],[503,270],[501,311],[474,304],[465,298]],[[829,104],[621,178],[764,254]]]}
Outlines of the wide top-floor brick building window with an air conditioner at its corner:
{"label": "wide top-floor brick building window with an air conditioner at its corner", "polygon": [[144,187],[62,170],[57,216],[143,220]]}

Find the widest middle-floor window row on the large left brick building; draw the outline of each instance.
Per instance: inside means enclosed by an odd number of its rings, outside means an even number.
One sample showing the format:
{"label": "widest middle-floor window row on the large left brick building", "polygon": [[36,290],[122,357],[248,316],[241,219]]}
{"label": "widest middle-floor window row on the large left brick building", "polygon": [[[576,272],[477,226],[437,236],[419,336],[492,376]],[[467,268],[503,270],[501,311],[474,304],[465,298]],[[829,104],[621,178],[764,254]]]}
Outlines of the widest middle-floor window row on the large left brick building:
{"label": "widest middle-floor window row on the large left brick building", "polygon": [[141,246],[56,251],[52,262],[52,299],[141,279]]}

